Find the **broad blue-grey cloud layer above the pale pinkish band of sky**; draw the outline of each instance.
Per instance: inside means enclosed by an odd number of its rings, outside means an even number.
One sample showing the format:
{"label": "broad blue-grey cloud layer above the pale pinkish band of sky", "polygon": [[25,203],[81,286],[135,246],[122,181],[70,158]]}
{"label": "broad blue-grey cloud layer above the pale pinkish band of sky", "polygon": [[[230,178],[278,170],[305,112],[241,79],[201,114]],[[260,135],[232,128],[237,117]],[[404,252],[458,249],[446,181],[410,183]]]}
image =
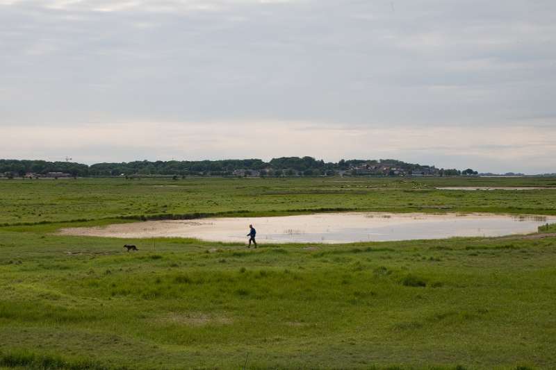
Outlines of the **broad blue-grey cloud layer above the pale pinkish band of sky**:
{"label": "broad blue-grey cloud layer above the pale pinkish band of sky", "polygon": [[0,1],[0,126],[555,130],[552,0],[391,3]]}

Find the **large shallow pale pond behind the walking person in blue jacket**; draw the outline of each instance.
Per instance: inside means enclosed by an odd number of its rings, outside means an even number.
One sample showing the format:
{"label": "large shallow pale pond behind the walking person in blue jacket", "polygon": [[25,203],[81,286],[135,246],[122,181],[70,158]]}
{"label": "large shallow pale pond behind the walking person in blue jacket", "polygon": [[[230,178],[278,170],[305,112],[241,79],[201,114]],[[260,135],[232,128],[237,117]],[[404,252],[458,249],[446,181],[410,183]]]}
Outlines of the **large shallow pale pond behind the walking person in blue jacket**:
{"label": "large shallow pale pond behind the walking person in blue jacket", "polygon": [[556,217],[421,213],[322,213],[287,217],[229,217],[196,220],[145,221],[106,227],[66,228],[65,235],[101,237],[194,237],[215,242],[245,242],[248,226],[258,242],[349,243],[389,240],[496,237],[534,233]]}

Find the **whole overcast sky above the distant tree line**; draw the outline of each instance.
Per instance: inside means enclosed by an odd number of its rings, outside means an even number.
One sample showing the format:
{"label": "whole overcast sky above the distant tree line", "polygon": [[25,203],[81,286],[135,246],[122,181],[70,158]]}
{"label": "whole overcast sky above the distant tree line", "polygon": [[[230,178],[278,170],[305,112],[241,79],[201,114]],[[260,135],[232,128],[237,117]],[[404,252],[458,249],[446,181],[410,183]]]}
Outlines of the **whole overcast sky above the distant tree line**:
{"label": "whole overcast sky above the distant tree line", "polygon": [[554,0],[0,0],[0,158],[556,172]]}

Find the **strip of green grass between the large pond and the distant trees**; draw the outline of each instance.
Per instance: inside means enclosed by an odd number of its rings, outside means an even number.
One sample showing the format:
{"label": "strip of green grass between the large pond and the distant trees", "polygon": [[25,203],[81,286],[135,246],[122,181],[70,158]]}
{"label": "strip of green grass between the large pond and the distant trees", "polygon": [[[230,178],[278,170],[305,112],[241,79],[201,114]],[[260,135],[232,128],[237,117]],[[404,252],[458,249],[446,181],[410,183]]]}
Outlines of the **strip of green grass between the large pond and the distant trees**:
{"label": "strip of green grass between the large pond and the distant trees", "polygon": [[[553,178],[193,178],[0,180],[1,224],[327,210],[556,215],[555,190],[448,191],[438,186],[556,187]],[[101,205],[101,206],[99,206]]]}

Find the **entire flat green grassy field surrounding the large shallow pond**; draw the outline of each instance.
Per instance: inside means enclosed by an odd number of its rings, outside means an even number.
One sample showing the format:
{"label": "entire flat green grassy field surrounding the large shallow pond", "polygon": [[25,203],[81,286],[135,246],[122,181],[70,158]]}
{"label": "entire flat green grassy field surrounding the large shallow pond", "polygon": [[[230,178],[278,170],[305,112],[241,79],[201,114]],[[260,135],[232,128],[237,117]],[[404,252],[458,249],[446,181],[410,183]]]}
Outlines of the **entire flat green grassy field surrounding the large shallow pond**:
{"label": "entire flat green grassy field surrounding the large shallow pond", "polygon": [[55,233],[199,213],[556,214],[556,190],[434,190],[458,185],[556,179],[0,180],[0,369],[556,369],[555,237],[126,253]]}

